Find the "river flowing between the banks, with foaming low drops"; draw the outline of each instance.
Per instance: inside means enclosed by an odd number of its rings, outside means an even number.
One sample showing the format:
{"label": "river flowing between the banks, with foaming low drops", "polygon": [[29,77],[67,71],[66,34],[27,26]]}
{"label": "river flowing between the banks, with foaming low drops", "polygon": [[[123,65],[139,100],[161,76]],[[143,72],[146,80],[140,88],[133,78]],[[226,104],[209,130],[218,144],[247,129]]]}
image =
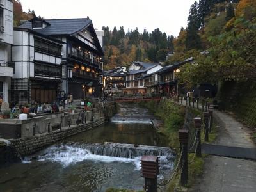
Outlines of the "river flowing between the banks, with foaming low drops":
{"label": "river flowing between the banks, with foaming low drops", "polygon": [[152,118],[147,109],[122,104],[111,122],[1,167],[0,191],[142,190],[143,155],[159,156],[159,179],[168,179],[175,156]]}

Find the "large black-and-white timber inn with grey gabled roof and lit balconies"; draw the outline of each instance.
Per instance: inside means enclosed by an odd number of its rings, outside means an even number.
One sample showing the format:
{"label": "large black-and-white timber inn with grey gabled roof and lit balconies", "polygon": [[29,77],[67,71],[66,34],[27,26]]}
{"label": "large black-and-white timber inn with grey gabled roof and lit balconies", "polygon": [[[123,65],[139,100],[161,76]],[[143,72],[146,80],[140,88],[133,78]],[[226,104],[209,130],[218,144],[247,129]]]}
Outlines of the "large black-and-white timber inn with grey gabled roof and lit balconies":
{"label": "large black-and-white timber inn with grey gabled roof and lit balconies", "polygon": [[103,49],[92,20],[35,17],[14,29],[12,100],[53,102],[58,92],[99,95]]}

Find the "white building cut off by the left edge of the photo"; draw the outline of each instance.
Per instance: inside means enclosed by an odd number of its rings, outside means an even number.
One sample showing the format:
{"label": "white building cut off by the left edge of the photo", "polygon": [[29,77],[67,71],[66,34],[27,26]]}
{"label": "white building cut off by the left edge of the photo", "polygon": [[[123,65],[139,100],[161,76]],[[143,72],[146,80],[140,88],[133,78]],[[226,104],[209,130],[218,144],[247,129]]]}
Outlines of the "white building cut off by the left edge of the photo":
{"label": "white building cut off by the left edge of the photo", "polygon": [[13,3],[8,0],[0,1],[0,97],[4,102],[10,101],[11,77],[13,66],[9,62],[8,50],[13,44]]}

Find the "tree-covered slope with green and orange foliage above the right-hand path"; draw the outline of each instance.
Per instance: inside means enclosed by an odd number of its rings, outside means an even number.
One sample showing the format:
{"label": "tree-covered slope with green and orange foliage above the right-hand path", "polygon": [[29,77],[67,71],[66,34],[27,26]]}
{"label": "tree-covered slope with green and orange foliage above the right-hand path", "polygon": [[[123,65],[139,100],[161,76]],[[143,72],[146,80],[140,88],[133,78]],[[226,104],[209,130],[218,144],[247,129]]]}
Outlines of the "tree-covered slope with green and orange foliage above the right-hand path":
{"label": "tree-covered slope with green and orange foliage above the right-hand path", "polygon": [[173,40],[175,54],[168,63],[195,56],[196,65],[179,74],[189,86],[255,79],[255,29],[255,0],[200,0],[190,8],[186,30]]}

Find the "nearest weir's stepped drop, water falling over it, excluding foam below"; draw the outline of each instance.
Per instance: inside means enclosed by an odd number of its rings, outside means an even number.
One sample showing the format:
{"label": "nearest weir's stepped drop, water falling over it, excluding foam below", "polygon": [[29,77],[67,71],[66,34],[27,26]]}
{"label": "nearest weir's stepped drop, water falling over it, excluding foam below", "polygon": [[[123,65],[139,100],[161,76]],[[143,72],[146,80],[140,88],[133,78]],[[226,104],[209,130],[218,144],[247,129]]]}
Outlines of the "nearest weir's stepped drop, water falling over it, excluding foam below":
{"label": "nearest weir's stepped drop, water falling over it, excluding foam below", "polygon": [[[72,150],[73,148],[73,150]],[[71,150],[70,150],[71,149]],[[120,157],[133,159],[135,157],[142,156],[166,156],[168,160],[175,159],[175,153],[171,148],[168,147],[156,147],[147,145],[134,145],[134,144],[124,144],[124,143],[110,143],[106,142],[104,144],[100,143],[67,143],[65,145],[53,146],[44,151],[43,154],[37,156],[26,157],[26,161],[31,159],[42,160],[45,157],[55,158],[65,152],[81,152],[90,153],[98,156],[109,156],[109,157]],[[70,154],[66,154],[69,156]],[[82,154],[81,154],[82,155]]]}

